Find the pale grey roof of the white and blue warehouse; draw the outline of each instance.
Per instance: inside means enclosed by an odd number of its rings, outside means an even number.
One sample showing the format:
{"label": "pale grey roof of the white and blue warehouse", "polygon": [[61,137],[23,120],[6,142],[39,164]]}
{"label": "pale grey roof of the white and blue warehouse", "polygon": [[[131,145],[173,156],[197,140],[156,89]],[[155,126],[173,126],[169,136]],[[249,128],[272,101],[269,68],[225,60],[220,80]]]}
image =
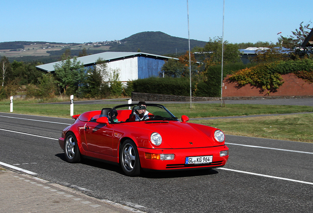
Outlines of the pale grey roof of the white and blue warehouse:
{"label": "pale grey roof of the white and blue warehouse", "polygon": [[[77,61],[80,61],[81,63],[83,63],[84,66],[88,66],[88,65],[91,66],[95,64],[95,62],[99,58],[102,58],[102,60],[105,60],[105,61],[115,61],[115,60],[121,60],[123,58],[140,57],[140,56],[160,58],[160,59],[171,58],[171,57],[154,55],[154,54],[143,53],[143,52],[103,52],[103,53],[97,53],[97,54],[88,55],[88,56],[77,57]],[[73,59],[71,59],[71,61],[73,61]],[[36,66],[36,68],[42,71],[51,72],[51,71],[54,71],[54,66],[56,64],[59,64],[60,62],[61,61],[39,65],[39,66]]]}

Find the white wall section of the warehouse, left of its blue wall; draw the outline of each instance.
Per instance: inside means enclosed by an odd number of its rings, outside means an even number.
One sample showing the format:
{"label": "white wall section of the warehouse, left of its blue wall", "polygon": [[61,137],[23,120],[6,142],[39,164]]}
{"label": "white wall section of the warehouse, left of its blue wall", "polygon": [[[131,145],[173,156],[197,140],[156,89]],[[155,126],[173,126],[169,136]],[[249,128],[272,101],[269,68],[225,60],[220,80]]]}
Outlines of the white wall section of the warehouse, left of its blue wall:
{"label": "white wall section of the warehouse, left of its blue wall", "polygon": [[137,57],[108,62],[107,66],[108,71],[120,71],[120,81],[122,82],[138,79]]}

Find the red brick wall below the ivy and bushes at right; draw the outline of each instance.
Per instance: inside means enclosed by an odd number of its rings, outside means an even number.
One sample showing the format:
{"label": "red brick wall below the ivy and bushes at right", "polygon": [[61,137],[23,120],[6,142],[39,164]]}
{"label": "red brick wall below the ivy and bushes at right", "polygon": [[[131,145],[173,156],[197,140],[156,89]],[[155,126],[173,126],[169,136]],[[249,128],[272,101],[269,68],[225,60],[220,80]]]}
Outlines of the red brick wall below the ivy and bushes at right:
{"label": "red brick wall below the ivy and bushes at right", "polygon": [[269,95],[264,91],[259,92],[259,88],[251,85],[246,85],[241,88],[236,88],[237,83],[229,83],[228,76],[224,78],[222,89],[223,97],[247,97],[247,96],[312,96],[313,83],[307,83],[301,78],[298,78],[293,73],[282,75],[284,83],[275,93]]}

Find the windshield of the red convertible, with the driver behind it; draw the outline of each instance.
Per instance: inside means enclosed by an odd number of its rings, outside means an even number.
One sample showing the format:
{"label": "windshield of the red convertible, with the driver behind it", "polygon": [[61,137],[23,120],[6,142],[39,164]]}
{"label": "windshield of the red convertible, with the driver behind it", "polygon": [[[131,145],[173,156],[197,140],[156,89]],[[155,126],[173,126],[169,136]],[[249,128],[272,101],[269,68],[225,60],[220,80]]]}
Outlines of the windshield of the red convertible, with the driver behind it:
{"label": "windshield of the red convertible, with the driver behind it", "polygon": [[[112,118],[110,114],[113,115]],[[109,118],[113,123],[150,120],[178,120],[177,117],[175,117],[164,106],[156,104],[115,106],[110,110]]]}

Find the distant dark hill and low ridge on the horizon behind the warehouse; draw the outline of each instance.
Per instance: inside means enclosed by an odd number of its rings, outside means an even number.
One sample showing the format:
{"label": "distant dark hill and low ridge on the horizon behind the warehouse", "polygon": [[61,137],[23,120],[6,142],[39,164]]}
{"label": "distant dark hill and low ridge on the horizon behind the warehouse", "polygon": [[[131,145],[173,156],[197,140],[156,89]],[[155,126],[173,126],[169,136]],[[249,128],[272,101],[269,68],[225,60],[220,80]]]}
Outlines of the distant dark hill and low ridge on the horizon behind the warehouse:
{"label": "distant dark hill and low ridge on the horizon behind the warehouse", "polygon": [[[190,48],[204,47],[206,41],[190,39]],[[146,52],[156,55],[179,56],[188,51],[188,39],[169,36],[162,32],[142,32],[122,40],[77,43],[57,43],[44,41],[0,42],[0,57],[10,61],[40,61],[50,63],[59,61],[65,49],[70,48],[72,56],[78,56],[85,48],[87,54],[100,52]]]}

